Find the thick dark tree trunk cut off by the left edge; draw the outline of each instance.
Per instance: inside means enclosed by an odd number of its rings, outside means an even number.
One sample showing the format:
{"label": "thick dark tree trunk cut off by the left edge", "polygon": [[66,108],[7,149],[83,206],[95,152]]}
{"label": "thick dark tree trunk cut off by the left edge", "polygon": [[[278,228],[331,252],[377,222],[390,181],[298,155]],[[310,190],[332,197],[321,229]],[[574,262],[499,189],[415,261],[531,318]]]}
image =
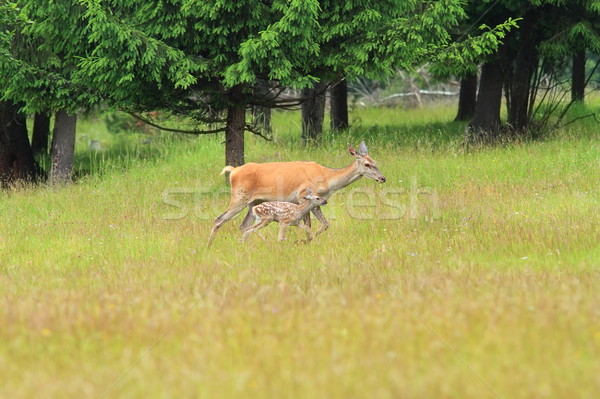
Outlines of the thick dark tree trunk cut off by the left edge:
{"label": "thick dark tree trunk cut off by the left edge", "polygon": [[34,181],[37,176],[26,117],[16,104],[0,102],[0,185],[7,187],[17,180]]}

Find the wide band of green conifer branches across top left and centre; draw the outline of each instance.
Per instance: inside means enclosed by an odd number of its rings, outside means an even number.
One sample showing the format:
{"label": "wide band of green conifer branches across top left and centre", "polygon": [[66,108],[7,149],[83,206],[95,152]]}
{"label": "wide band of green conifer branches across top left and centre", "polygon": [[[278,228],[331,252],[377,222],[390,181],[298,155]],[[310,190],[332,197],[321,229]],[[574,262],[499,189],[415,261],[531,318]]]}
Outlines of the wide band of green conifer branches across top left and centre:
{"label": "wide band of green conifer branches across top left and centre", "polygon": [[[510,24],[445,52],[459,0],[21,0],[32,23],[13,40],[1,88],[31,110],[165,109],[214,120],[228,90],[265,101],[260,82],[302,88],[347,75],[382,76],[442,57],[493,51]],[[440,55],[446,54],[446,55]],[[7,70],[6,66],[3,70]],[[275,101],[268,97],[266,100]],[[239,99],[237,100],[239,101]],[[213,115],[213,116],[211,116]]]}

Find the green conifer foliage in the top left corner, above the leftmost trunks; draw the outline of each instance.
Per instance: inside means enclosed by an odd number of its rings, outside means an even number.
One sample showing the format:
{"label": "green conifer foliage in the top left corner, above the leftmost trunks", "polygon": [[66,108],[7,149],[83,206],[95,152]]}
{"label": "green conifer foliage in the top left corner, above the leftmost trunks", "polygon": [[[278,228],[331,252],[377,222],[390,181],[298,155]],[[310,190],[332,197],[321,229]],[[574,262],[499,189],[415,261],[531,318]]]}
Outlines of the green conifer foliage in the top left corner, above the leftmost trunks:
{"label": "green conifer foliage in the top left corner, above the leftmost trunks", "polygon": [[74,79],[76,56],[87,51],[81,8],[67,1],[21,0],[10,58],[0,64],[0,92],[30,111],[72,112],[99,102],[97,93]]}

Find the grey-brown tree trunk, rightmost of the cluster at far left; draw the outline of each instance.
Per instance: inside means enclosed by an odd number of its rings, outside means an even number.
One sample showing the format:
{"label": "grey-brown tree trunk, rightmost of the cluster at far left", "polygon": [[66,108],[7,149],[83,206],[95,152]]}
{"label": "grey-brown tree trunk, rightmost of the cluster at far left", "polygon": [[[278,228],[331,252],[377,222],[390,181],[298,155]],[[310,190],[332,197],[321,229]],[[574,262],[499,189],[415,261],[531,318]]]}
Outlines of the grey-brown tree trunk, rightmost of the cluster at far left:
{"label": "grey-brown tree trunk, rightmost of the cluster at far left", "polygon": [[67,111],[58,111],[54,117],[54,133],[52,134],[52,167],[50,183],[68,183],[73,171],[75,155],[75,131],[77,115],[69,115]]}

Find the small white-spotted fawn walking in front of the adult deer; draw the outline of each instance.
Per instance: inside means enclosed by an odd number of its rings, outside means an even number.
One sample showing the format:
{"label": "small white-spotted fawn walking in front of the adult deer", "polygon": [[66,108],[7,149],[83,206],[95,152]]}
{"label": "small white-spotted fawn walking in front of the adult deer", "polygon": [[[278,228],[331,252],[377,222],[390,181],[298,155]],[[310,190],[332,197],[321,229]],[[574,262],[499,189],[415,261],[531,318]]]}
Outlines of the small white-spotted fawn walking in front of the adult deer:
{"label": "small white-spotted fawn walking in front of the adult deer", "polygon": [[302,197],[304,202],[299,205],[292,202],[283,201],[270,201],[263,202],[260,205],[256,205],[252,208],[252,216],[256,220],[253,226],[248,227],[244,230],[242,235],[242,241],[246,241],[248,236],[271,222],[279,223],[279,236],[278,240],[283,241],[285,239],[285,232],[290,226],[298,226],[306,231],[306,240],[312,241],[314,235],[306,224],[299,224],[300,220],[304,219],[311,209],[315,206],[323,206],[327,204],[327,200],[313,195],[310,188],[306,187],[306,195]]}

